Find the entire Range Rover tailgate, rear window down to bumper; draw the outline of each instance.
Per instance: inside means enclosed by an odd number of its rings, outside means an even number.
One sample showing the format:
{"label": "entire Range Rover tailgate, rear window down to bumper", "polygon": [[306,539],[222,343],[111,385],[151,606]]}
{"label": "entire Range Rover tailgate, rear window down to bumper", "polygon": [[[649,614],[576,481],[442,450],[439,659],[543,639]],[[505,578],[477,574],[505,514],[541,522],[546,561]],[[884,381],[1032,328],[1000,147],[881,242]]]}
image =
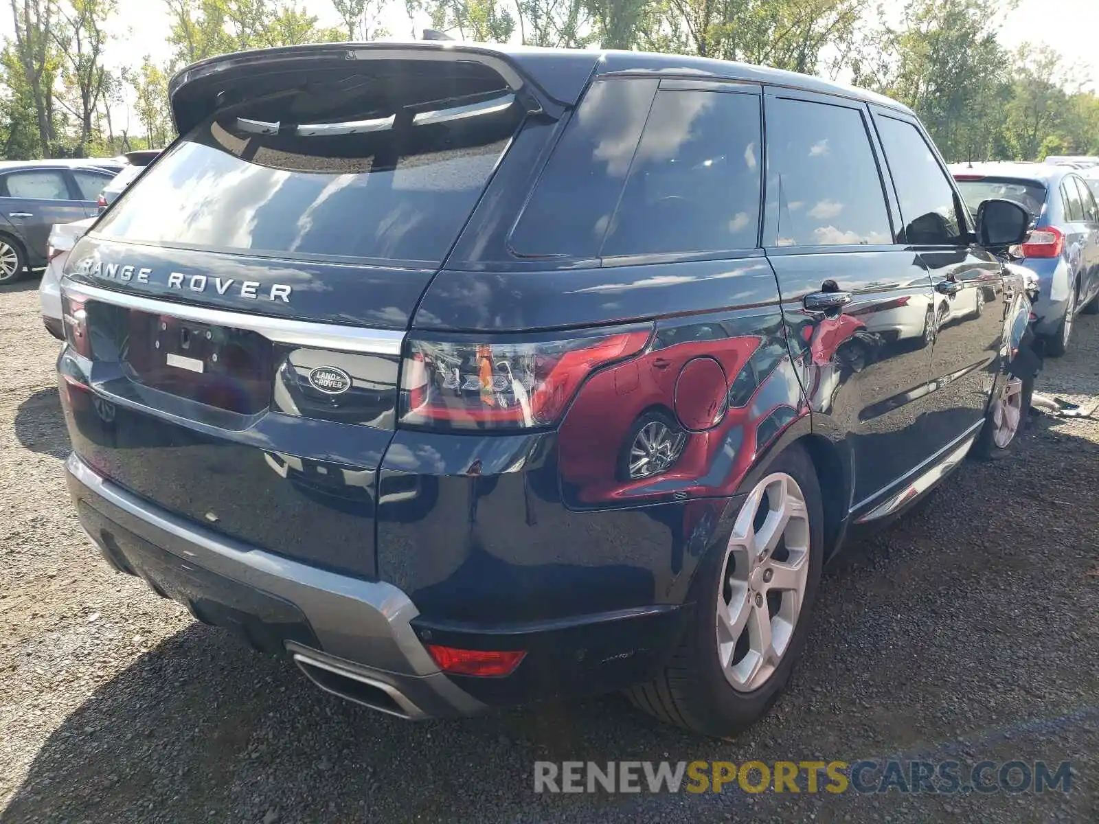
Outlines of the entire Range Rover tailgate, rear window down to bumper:
{"label": "entire Range Rover tailgate, rear window down to bumper", "polygon": [[69,428],[160,506],[373,577],[404,330],[526,109],[476,63],[290,82],[185,134],[74,249]]}

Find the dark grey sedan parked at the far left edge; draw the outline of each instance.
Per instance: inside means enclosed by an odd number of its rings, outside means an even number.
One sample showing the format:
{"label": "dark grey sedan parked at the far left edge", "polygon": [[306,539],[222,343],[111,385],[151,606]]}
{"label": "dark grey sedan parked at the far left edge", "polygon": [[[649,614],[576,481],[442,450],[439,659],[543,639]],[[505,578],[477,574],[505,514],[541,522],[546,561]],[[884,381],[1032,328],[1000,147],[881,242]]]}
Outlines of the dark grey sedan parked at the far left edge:
{"label": "dark grey sedan parked at the far left edge", "polygon": [[100,190],[119,169],[113,162],[0,163],[0,283],[45,265],[54,225],[93,216]]}

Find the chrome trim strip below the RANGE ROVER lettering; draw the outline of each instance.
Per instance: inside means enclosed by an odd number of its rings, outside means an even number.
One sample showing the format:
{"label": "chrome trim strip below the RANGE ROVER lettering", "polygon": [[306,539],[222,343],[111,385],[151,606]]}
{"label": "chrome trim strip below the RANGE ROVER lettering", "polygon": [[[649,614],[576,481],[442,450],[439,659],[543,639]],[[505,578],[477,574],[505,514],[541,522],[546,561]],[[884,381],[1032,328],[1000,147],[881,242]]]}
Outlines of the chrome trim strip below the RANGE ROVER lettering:
{"label": "chrome trim strip below the RANGE ROVER lettering", "polygon": [[368,355],[400,355],[404,332],[397,330],[363,329],[342,326],[335,323],[293,321],[287,318],[271,318],[262,314],[231,312],[224,309],[196,307],[190,303],[145,298],[140,294],[100,289],[64,279],[62,291],[79,294],[89,300],[111,303],[125,309],[136,309],[153,314],[166,314],[196,323],[214,326],[232,326],[263,335],[274,343],[292,346],[310,346],[318,349],[360,352]]}

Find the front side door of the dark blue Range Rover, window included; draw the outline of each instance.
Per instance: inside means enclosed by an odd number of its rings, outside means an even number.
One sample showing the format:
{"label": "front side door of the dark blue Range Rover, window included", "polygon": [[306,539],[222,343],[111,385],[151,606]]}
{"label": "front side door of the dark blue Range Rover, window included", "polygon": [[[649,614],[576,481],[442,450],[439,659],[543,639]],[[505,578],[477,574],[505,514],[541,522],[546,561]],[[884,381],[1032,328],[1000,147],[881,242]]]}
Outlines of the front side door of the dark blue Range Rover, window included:
{"label": "front side door of the dark blue Range Rover, window included", "polygon": [[917,121],[876,110],[875,125],[900,204],[899,237],[919,255],[934,288],[934,357],[921,426],[935,449],[946,448],[980,425],[1000,366],[1001,265],[970,244],[962,198]]}

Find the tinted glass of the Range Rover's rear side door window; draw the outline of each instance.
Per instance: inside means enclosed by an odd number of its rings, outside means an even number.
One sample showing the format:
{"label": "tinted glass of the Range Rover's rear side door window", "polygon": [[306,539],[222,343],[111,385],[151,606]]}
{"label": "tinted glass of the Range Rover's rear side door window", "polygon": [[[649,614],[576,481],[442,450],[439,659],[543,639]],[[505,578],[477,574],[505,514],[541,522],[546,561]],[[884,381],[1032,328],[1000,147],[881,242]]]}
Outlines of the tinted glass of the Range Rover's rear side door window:
{"label": "tinted glass of the Range Rover's rear side door window", "polygon": [[892,243],[881,176],[858,109],[769,98],[767,175],[768,214],[777,220],[765,245]]}

